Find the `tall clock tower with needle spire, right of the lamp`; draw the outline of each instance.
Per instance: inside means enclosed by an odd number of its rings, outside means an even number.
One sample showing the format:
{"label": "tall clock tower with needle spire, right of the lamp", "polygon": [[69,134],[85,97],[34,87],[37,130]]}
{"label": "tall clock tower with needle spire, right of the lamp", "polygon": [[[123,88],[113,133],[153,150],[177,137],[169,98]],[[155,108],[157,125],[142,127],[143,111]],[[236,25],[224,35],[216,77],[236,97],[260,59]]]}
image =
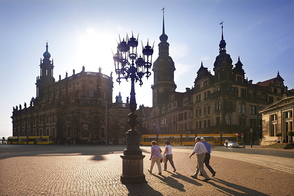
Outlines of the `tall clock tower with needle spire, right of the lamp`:
{"label": "tall clock tower with needle spire, right of the lamp", "polygon": [[[176,89],[174,82],[175,63],[169,56],[168,36],[164,32],[164,9],[163,9],[163,27],[162,35],[159,37],[161,41],[158,44],[158,58],[153,62],[154,83],[151,86],[153,91],[153,110],[160,109],[168,103],[168,96],[171,90]],[[159,112],[157,113],[159,114]]]}

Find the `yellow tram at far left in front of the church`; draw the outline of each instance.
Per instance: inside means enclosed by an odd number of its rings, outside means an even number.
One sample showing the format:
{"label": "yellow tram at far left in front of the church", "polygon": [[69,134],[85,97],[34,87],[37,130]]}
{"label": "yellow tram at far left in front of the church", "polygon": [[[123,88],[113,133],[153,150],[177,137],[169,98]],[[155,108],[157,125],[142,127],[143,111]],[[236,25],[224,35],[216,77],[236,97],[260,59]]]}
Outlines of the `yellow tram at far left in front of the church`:
{"label": "yellow tram at far left in front of the church", "polygon": [[8,144],[52,144],[53,136],[14,136],[7,138]]}

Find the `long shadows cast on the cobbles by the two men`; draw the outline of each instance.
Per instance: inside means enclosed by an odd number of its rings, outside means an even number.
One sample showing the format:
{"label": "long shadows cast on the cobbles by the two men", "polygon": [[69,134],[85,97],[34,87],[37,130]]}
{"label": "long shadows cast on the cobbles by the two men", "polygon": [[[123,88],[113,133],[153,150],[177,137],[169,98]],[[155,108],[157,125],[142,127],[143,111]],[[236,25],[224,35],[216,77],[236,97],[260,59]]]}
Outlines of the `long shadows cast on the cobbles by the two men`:
{"label": "long shadows cast on the cobbles by the two men", "polygon": [[[231,187],[233,189],[237,189],[237,190],[240,190],[242,192],[244,192],[243,194],[240,193],[240,192],[237,192],[235,190],[232,190],[232,189],[229,189],[225,186],[220,186],[220,185],[217,185],[215,183],[213,183],[213,181],[217,182],[217,183],[221,183],[227,187]],[[267,194],[264,194],[263,192],[259,192],[257,190],[253,190],[253,189],[250,189],[250,188],[247,188],[247,187],[244,187],[244,186],[240,186],[240,185],[237,185],[237,184],[233,184],[233,183],[229,183],[225,180],[221,180],[221,179],[218,179],[218,178],[211,178],[211,181],[208,181],[209,184],[211,184],[212,186],[216,187],[216,188],[219,188],[220,192],[223,192],[224,194],[232,194],[232,195],[267,195]],[[223,190],[223,191],[221,191]]]}

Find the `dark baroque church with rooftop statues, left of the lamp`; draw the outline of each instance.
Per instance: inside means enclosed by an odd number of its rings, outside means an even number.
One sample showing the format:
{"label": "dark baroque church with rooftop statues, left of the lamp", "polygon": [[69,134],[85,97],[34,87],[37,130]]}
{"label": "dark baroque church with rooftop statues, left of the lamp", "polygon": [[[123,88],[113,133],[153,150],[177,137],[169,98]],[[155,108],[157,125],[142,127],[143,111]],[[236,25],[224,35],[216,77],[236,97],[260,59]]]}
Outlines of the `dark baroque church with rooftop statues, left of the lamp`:
{"label": "dark baroque church with rooftop statues, left of the lamp", "polygon": [[[29,107],[13,107],[13,136],[54,136],[56,143],[124,144],[129,129],[127,103],[112,103],[112,73],[82,71],[55,81],[48,43]],[[106,118],[107,116],[107,118]],[[107,136],[107,139],[106,139]]]}

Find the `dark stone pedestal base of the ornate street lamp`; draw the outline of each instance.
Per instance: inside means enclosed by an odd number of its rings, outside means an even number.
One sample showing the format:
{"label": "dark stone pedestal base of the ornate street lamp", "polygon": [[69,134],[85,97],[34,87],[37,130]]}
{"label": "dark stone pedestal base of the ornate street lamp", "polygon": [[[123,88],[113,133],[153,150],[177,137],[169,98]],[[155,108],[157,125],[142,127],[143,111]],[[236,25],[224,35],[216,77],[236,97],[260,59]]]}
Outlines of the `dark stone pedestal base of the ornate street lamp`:
{"label": "dark stone pedestal base of the ornate street lamp", "polygon": [[142,183],[145,182],[143,173],[143,158],[145,155],[121,155],[123,159],[122,183]]}

